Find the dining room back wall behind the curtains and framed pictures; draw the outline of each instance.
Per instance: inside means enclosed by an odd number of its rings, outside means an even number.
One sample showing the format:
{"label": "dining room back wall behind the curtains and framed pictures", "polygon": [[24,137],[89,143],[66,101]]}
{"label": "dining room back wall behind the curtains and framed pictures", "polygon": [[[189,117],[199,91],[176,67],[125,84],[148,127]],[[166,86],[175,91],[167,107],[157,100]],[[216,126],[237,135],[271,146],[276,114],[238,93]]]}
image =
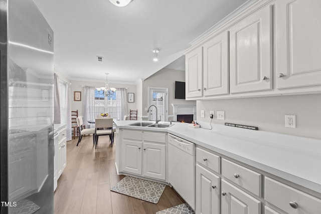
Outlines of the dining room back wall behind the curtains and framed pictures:
{"label": "dining room back wall behind the curtains and framed pictures", "polygon": [[[88,82],[88,81],[71,81],[71,110],[75,111],[78,109],[78,114],[83,115],[83,87],[82,86],[94,86],[94,87],[103,87],[105,82]],[[119,83],[109,83],[109,87],[114,88],[127,88],[127,93],[135,93],[134,102],[127,102],[127,109],[129,114],[129,109],[137,109],[137,101],[136,101],[136,85],[130,84],[119,84]],[[81,101],[74,101],[74,91],[81,91]]]}

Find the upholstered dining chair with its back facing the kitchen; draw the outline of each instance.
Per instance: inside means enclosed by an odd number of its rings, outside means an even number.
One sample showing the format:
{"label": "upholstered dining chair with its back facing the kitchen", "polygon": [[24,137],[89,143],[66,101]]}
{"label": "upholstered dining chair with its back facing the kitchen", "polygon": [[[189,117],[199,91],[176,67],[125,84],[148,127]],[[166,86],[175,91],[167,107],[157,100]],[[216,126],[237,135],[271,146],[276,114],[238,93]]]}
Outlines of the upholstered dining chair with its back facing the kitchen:
{"label": "upholstered dining chair with its back facing the kitchen", "polygon": [[112,118],[96,118],[95,119],[95,148],[97,148],[98,137],[101,135],[109,135],[111,146],[114,141],[113,138],[113,119]]}

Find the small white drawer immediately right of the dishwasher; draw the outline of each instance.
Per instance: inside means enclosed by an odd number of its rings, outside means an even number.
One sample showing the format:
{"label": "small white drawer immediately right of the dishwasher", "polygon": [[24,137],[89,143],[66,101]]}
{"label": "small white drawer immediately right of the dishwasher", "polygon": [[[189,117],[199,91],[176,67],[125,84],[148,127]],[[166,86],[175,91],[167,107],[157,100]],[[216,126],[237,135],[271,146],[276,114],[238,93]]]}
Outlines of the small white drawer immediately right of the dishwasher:
{"label": "small white drawer immediately right of the dishwasher", "polygon": [[196,161],[209,169],[220,173],[220,156],[201,148],[196,148]]}

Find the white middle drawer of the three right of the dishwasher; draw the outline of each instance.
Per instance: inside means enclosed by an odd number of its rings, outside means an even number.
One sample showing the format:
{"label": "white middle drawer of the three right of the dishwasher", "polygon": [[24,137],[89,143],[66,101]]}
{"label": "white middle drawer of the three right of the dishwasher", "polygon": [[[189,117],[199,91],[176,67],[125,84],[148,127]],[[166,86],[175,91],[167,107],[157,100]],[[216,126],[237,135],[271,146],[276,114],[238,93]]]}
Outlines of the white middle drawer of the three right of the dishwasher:
{"label": "white middle drawer of the three right of the dishwasher", "polygon": [[257,196],[261,196],[260,173],[222,158],[222,175]]}

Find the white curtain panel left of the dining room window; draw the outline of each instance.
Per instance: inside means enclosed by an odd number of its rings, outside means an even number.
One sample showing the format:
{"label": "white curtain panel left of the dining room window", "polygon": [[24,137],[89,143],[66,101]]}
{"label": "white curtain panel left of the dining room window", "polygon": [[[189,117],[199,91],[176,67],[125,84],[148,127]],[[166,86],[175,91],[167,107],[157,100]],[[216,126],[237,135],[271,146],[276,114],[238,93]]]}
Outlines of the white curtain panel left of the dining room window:
{"label": "white curtain panel left of the dining room window", "polygon": [[84,86],[83,124],[90,128],[88,120],[95,119],[95,87]]}

